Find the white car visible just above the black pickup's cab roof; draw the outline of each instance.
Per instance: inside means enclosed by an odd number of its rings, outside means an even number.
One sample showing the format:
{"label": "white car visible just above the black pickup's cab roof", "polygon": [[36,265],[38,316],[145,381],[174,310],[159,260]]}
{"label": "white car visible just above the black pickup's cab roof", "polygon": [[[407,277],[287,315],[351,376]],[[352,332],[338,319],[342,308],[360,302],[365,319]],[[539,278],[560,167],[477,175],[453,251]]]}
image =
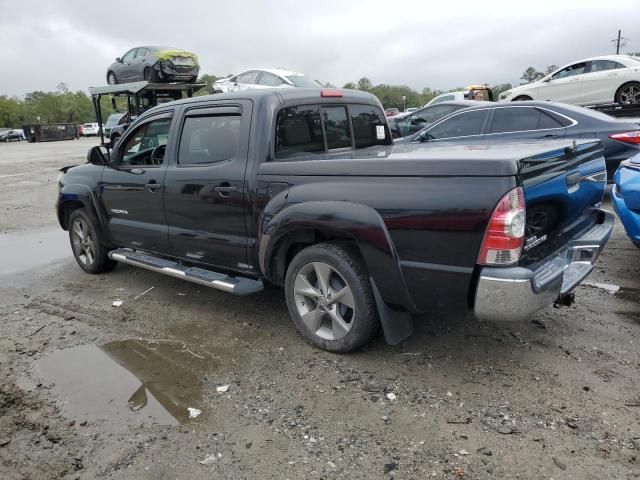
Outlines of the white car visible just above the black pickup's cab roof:
{"label": "white car visible just above the black pickup's cab roof", "polygon": [[304,73],[274,68],[256,68],[222,78],[213,83],[213,93],[238,92],[255,88],[322,88]]}

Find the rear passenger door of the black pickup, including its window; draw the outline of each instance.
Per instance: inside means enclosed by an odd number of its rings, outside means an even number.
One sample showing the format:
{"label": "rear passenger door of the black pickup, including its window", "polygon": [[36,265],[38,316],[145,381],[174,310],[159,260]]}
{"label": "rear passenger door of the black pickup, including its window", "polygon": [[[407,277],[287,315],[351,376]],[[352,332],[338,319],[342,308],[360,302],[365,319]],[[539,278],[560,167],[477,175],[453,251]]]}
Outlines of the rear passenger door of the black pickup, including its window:
{"label": "rear passenger door of the black pickup, including its window", "polygon": [[165,176],[172,255],[230,270],[247,268],[245,169],[251,102],[189,107]]}

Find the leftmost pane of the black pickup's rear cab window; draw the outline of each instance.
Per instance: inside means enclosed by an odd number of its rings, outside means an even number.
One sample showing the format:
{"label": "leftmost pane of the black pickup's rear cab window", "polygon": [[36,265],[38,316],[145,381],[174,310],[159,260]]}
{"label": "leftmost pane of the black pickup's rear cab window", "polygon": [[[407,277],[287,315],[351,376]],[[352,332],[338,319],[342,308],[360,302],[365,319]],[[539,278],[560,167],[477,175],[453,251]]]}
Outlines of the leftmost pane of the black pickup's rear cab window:
{"label": "leftmost pane of the black pickup's rear cab window", "polygon": [[318,105],[283,108],[276,119],[276,157],[324,152]]}

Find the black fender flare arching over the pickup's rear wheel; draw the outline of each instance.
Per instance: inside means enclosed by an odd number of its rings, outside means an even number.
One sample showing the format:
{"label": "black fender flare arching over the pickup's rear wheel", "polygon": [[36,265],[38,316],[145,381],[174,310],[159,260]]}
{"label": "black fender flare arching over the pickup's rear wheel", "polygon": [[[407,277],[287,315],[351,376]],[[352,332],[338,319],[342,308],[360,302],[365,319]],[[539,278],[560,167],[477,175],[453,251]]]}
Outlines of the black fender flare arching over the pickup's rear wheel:
{"label": "black fender flare arching over the pickup's rear wheel", "polygon": [[286,235],[305,230],[339,233],[357,243],[384,302],[415,311],[391,236],[373,208],[341,201],[302,202],[263,214],[259,225],[259,264],[267,279],[272,279],[271,259]]}

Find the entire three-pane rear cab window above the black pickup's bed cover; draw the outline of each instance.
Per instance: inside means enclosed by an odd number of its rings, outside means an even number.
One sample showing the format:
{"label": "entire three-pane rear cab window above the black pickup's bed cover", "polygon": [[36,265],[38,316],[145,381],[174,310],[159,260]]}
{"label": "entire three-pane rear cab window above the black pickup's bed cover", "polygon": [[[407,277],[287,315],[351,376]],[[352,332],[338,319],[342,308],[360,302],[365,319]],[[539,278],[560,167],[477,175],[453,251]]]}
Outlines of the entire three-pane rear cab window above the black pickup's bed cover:
{"label": "entire three-pane rear cab window above the black pickup's bed cover", "polygon": [[285,107],[276,116],[276,160],[391,143],[384,114],[375,105],[299,105]]}

